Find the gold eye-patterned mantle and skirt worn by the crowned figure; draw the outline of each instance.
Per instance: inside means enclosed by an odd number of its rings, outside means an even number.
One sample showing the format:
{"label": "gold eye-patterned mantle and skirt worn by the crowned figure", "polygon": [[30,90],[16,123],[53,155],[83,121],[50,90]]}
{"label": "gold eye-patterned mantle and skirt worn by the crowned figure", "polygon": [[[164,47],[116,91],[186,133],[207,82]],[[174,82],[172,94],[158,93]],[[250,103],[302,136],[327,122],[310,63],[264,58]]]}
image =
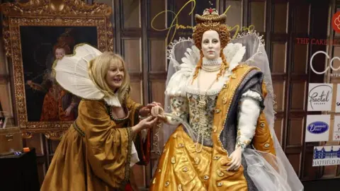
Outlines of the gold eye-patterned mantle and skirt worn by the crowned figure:
{"label": "gold eye-patterned mantle and skirt worn by the crowned figure", "polygon": [[[212,147],[203,146],[201,152],[196,152],[194,141],[184,132],[182,125],[171,134],[159,158],[150,190],[248,190],[243,166],[236,171],[227,170],[226,164],[231,159],[219,137],[225,126],[234,93],[246,74],[253,69],[257,68],[243,64],[237,66],[219,93],[212,125]],[[262,93],[264,98],[264,83]],[[273,139],[263,112],[259,116],[252,144],[259,151],[275,155]]]}

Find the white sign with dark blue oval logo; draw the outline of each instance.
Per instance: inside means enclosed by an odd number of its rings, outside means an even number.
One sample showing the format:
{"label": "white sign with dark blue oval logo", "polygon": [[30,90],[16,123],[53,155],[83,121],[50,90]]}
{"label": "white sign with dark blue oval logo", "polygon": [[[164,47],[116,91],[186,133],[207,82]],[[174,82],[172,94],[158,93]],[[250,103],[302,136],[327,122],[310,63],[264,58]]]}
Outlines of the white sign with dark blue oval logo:
{"label": "white sign with dark blue oval logo", "polygon": [[306,142],[328,141],[331,115],[307,115]]}

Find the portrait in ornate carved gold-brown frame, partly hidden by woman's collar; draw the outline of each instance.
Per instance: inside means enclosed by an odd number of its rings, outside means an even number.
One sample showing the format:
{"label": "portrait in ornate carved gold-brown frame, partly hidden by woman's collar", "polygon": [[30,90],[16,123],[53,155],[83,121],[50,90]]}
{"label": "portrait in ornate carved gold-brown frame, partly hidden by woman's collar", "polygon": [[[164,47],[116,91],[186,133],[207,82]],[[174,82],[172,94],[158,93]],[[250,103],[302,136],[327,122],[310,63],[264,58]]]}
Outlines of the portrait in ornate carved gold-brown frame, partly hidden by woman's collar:
{"label": "portrait in ornate carved gold-brown frame, partly hidden by woman's collar", "polygon": [[24,138],[41,132],[60,139],[77,118],[80,98],[52,75],[53,64],[74,46],[113,50],[111,7],[81,0],[28,1],[1,5],[4,44],[13,72],[16,123]]}

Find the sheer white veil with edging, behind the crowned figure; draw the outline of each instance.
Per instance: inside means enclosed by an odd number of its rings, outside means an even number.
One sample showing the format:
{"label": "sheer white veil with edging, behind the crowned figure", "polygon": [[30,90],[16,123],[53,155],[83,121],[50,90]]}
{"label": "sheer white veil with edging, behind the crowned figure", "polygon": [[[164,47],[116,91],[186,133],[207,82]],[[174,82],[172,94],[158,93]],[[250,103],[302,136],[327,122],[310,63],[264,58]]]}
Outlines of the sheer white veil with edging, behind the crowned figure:
{"label": "sheer white veil with edging, behind the crowned figure", "polygon": [[[256,151],[254,149],[246,149],[244,151],[244,158],[248,165],[247,170],[251,180],[253,180],[258,190],[303,190],[303,185],[288,161],[288,158],[285,156],[274,131],[275,101],[273,83],[271,80],[271,70],[269,68],[268,57],[263,45],[262,37],[255,31],[249,31],[248,33],[237,35],[237,37],[229,43],[240,43],[246,48],[246,53],[244,54],[242,62],[261,69],[264,74],[264,82],[266,83],[268,91],[264,101],[265,108],[263,112],[265,112],[266,120],[268,121],[268,125],[271,129],[271,136],[273,137],[275,144],[276,156]],[[225,55],[227,53],[230,55],[230,52],[226,52],[226,49],[223,52]],[[169,68],[166,78],[166,86],[169,83],[171,76],[181,69],[181,64],[183,63],[182,59],[185,57],[188,58],[188,54],[190,54],[190,58],[192,59],[191,63],[193,63],[193,66],[190,66],[190,68],[194,69],[198,59],[200,58],[200,53],[194,45],[193,40],[190,38],[180,38],[169,45],[167,54],[167,58],[169,59]],[[226,57],[226,59],[227,62],[229,62],[232,58]],[[166,113],[171,112],[170,98],[166,95],[164,110]],[[163,149],[163,145],[175,129],[175,125],[164,125],[162,130],[159,132],[159,146],[161,151]]]}

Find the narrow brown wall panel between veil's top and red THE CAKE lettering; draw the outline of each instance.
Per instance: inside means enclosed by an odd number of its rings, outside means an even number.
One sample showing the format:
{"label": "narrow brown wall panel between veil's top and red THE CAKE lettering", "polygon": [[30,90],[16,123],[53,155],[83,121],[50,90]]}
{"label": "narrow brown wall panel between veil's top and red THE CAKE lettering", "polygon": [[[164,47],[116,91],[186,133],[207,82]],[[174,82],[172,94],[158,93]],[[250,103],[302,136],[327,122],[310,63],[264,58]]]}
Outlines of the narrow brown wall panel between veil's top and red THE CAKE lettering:
{"label": "narrow brown wall panel between veil's top and red THE CAKE lettering", "polygon": [[273,73],[285,73],[285,51],[286,51],[286,44],[285,43],[277,43],[273,42],[272,44],[273,49]]}

